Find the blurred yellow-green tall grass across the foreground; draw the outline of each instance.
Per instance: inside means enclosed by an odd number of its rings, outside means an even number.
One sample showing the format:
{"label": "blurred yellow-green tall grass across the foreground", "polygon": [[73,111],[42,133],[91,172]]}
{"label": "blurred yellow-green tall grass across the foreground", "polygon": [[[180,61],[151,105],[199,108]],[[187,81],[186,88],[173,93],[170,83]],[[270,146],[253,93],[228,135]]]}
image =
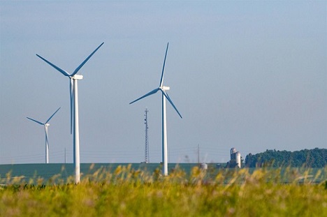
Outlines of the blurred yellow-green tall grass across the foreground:
{"label": "blurred yellow-green tall grass across the foreground", "polygon": [[159,169],[122,166],[97,170],[77,185],[73,177],[43,184],[8,174],[0,216],[327,216],[325,174],[327,167],[314,174],[263,168],[215,175],[194,167],[191,174],[176,168],[161,177]]}

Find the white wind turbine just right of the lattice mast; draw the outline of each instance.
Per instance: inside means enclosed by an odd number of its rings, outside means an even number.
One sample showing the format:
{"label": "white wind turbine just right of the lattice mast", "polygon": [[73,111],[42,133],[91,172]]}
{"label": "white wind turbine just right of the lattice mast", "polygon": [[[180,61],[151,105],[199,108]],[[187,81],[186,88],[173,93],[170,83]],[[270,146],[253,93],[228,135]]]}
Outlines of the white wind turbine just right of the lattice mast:
{"label": "white wind turbine just right of the lattice mast", "polygon": [[[166,125],[166,99],[168,99],[169,103],[173,105],[174,109],[180,115],[180,112],[178,112],[177,108],[175,107],[173,101],[170,99],[168,96],[168,91],[170,87],[163,86],[163,75],[165,72],[165,63],[166,63],[166,57],[167,57],[167,52],[168,52],[168,45],[167,43],[167,48],[166,48],[166,54],[165,54],[165,59],[163,60],[163,67],[162,67],[162,73],[161,73],[161,79],[160,79],[160,84],[157,89],[154,89],[153,91],[150,91],[149,93],[145,94],[144,96],[141,96],[140,98],[133,100],[131,103],[135,103],[136,101],[145,98],[147,96],[150,96],[154,93],[157,93],[157,91],[161,91],[162,93],[162,163],[163,163],[163,168],[162,168],[162,174],[164,176],[168,175],[168,151],[167,151],[167,125]],[[129,103],[129,104],[131,104]],[[180,118],[182,118],[182,115],[180,115]]]}

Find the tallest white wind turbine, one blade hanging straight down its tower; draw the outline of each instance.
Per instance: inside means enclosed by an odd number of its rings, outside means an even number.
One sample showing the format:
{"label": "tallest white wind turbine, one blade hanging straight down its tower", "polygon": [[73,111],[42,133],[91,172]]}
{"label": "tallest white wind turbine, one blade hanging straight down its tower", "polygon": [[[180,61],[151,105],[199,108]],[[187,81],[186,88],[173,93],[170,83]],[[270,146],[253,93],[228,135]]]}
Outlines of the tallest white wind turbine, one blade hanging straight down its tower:
{"label": "tallest white wind turbine, one blade hanging straight down its tower", "polygon": [[36,54],[36,56],[40,57],[48,63],[53,68],[59,70],[60,73],[65,75],[66,77],[69,77],[70,80],[70,94],[71,94],[71,133],[73,130],[73,149],[74,149],[74,165],[75,165],[75,183],[80,182],[80,130],[79,130],[79,124],[78,124],[78,80],[83,79],[83,75],[77,75],[78,70],[84,66],[84,64],[89,60],[89,58],[92,57],[92,55],[103,45],[99,45],[99,47],[96,47],[96,50],[89,54],[89,57],[83,61],[78,68],[76,68],[73,73],[69,74],[66,72],[66,70],[62,70],[58,66],[55,66],[53,63],[50,63],[50,61],[44,59],[40,55]]}

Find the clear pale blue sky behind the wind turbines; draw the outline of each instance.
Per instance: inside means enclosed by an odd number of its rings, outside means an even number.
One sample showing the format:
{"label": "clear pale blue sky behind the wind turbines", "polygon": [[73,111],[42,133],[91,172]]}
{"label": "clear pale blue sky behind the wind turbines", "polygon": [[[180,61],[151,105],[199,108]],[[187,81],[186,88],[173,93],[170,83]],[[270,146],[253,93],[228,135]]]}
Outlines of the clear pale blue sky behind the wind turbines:
{"label": "clear pale blue sky behind the wind turbines", "polygon": [[326,1],[0,1],[0,163],[73,162],[69,80],[80,70],[81,163],[161,161],[164,84],[170,163],[327,147]]}

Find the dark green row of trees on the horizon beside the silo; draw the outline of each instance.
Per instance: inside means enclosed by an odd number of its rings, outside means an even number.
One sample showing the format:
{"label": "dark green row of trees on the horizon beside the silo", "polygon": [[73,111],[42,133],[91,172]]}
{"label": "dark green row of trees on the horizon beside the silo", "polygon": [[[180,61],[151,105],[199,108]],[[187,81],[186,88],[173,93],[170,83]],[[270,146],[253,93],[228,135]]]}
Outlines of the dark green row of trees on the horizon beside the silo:
{"label": "dark green row of trees on the horizon beside the silo", "polygon": [[266,150],[259,154],[248,154],[245,167],[326,167],[327,149],[304,149],[300,151]]}

